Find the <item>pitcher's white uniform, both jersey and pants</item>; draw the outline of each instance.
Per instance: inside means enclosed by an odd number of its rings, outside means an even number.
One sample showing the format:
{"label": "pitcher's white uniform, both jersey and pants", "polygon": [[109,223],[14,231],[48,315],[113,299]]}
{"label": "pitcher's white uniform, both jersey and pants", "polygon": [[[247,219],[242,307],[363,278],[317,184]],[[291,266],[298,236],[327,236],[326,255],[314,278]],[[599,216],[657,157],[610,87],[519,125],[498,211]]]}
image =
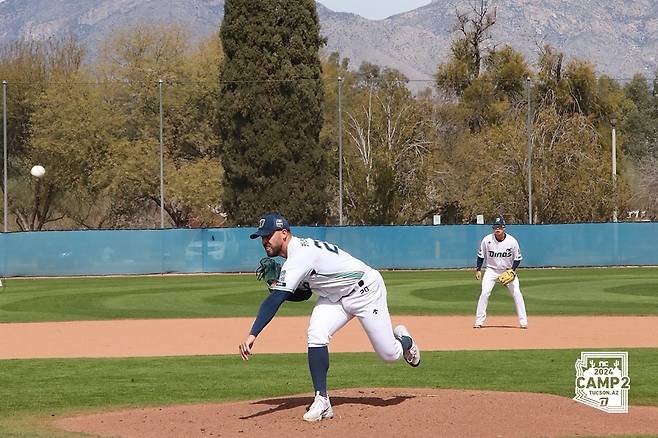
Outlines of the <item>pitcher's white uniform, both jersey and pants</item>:
{"label": "pitcher's white uniform, both jersey and pants", "polygon": [[381,274],[336,245],[292,236],[288,258],[272,289],[293,292],[308,285],[318,298],[308,327],[308,346],[324,347],[357,317],[375,352],[392,362],[403,354],[393,335]]}

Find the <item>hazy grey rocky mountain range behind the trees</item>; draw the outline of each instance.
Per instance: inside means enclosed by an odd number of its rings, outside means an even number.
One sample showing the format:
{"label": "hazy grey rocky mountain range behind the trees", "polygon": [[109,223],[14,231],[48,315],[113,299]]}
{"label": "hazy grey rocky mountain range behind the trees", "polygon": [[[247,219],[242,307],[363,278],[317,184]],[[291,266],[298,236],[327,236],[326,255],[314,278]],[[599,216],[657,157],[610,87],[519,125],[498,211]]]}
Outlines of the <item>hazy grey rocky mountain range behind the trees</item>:
{"label": "hazy grey rocky mountain range behind the trees", "polygon": [[[326,53],[337,51],[358,68],[363,61],[429,81],[449,56],[456,11],[476,0],[434,0],[383,20],[334,12],[317,4]],[[479,1],[478,1],[479,3]],[[600,74],[653,78],[658,67],[656,0],[495,0],[491,44],[510,44],[531,64],[550,43],[567,58],[594,63]],[[118,28],[138,22],[177,22],[202,38],[217,30],[224,0],[4,0],[0,43],[73,34],[94,54]]]}

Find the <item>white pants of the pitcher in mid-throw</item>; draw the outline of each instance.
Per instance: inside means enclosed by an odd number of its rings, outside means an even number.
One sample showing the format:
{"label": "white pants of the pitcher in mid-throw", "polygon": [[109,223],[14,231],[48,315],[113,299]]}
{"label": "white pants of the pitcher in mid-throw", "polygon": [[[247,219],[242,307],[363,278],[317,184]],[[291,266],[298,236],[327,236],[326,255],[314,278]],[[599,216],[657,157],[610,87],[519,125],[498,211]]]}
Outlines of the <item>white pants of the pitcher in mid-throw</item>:
{"label": "white pants of the pitcher in mid-throw", "polygon": [[356,316],[379,357],[386,362],[396,361],[402,357],[402,345],[393,335],[384,279],[373,269],[363,282],[363,286],[336,303],[318,298],[308,326],[308,346],[329,345],[334,333]]}

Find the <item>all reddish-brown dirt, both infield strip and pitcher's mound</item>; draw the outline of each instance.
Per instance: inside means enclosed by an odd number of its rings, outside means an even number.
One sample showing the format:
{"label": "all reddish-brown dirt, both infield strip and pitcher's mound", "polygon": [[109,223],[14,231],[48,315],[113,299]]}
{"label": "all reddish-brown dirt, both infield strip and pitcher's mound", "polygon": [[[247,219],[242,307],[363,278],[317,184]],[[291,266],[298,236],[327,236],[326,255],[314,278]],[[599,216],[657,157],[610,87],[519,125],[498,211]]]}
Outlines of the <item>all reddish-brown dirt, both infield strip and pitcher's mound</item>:
{"label": "all reddish-brown dirt, both infield strip and pitcher's mound", "polygon": [[[144,357],[236,354],[251,318],[0,324],[0,358]],[[425,351],[658,347],[658,317],[514,317],[482,329],[472,317],[394,317]],[[305,352],[307,317],[276,318],[254,353]],[[605,328],[604,330],[602,329]],[[291,337],[292,336],[292,337]],[[285,340],[286,342],[282,342]],[[283,347],[282,347],[283,346]],[[332,352],[372,351],[357,322],[343,328]],[[421,365],[422,366],[422,365]],[[57,428],[112,437],[557,437],[658,433],[658,408],[606,414],[546,394],[431,389],[331,391],[336,417],[307,424],[311,395],[239,403],[142,408],[59,419]]]}

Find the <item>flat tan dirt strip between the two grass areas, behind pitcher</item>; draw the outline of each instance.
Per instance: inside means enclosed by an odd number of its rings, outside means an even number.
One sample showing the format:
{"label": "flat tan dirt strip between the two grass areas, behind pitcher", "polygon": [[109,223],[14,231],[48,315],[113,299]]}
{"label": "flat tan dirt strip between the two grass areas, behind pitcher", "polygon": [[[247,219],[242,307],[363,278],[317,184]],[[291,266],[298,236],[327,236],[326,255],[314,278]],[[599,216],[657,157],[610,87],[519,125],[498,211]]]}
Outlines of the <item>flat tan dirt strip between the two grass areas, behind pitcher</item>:
{"label": "flat tan dirt strip between the two grass areas, behind pitcher", "polygon": [[[154,319],[0,324],[0,359],[149,357],[238,353],[252,318]],[[658,316],[536,316],[528,330],[516,318],[490,317],[473,329],[470,316],[394,316],[421,349],[516,350],[658,347]],[[274,318],[258,337],[254,354],[306,352],[308,317]],[[331,340],[332,352],[372,351],[351,321]]]}

